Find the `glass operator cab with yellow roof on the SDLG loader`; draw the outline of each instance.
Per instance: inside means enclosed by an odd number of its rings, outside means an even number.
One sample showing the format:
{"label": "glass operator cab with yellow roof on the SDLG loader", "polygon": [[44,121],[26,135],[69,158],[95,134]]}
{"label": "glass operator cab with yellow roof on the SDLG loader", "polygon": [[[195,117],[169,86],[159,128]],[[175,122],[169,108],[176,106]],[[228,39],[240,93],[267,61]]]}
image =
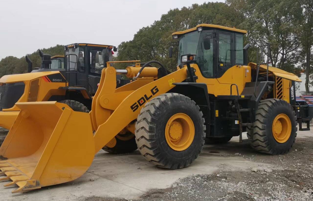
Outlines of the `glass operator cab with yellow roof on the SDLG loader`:
{"label": "glass operator cab with yellow roof on the SDLG loader", "polygon": [[220,78],[234,65],[247,65],[243,37],[247,31],[211,24],[200,24],[186,31],[175,32],[173,39],[179,42],[178,65],[184,54],[196,54],[203,77]]}

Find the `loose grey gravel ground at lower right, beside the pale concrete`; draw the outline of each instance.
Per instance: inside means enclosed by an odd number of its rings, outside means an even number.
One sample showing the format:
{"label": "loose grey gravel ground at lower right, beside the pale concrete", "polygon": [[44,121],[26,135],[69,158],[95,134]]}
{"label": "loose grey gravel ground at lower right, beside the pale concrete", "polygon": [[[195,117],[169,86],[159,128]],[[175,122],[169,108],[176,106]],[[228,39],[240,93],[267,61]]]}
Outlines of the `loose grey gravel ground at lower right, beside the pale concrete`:
{"label": "loose grey gravel ground at lower right, beside the pale concrete", "polygon": [[[313,200],[313,137],[297,138],[288,154],[224,154],[259,162],[259,166],[233,169],[221,164],[213,174],[181,178],[166,189],[151,189],[138,201],[309,201]],[[130,201],[89,197],[85,201]],[[135,200],[133,200],[135,201]]]}

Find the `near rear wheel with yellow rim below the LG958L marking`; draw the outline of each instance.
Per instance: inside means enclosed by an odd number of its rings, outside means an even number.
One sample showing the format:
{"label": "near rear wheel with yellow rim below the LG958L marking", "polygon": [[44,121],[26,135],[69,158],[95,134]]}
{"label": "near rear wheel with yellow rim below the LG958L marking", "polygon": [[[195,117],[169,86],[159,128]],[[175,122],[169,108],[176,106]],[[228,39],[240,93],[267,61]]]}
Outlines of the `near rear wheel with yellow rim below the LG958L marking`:
{"label": "near rear wheel with yellow rim below the LG958L marking", "polygon": [[[280,125],[276,127],[275,119],[281,119],[278,123]],[[296,120],[295,111],[286,101],[280,99],[260,101],[253,124],[251,147],[271,155],[288,153],[297,136]],[[249,134],[250,130],[247,133],[248,137]]]}

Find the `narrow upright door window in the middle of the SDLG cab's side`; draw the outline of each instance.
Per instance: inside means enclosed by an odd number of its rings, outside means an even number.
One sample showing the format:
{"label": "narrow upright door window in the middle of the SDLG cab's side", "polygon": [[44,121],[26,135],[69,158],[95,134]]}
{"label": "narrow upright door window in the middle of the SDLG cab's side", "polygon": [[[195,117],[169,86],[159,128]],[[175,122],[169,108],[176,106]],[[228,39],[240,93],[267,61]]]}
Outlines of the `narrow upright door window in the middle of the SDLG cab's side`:
{"label": "narrow upright door window in the middle of the SDLG cab's side", "polygon": [[218,33],[218,63],[231,64],[231,35]]}

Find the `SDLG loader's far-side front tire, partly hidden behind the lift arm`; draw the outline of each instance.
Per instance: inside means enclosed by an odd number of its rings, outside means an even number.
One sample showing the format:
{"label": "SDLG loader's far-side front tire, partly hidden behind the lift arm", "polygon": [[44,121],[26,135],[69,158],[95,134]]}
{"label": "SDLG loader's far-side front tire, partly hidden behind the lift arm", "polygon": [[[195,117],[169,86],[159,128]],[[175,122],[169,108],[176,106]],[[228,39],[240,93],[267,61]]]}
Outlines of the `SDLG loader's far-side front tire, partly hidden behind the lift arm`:
{"label": "SDLG loader's far-side front tire, partly hidden behind the lift arm", "polygon": [[[123,140],[123,138],[125,138],[125,135],[129,135],[130,139]],[[131,153],[137,149],[135,135],[131,132],[128,132],[126,134],[118,134],[117,136],[115,136],[115,139],[116,145],[114,147],[104,146],[102,149],[111,154]]]}

